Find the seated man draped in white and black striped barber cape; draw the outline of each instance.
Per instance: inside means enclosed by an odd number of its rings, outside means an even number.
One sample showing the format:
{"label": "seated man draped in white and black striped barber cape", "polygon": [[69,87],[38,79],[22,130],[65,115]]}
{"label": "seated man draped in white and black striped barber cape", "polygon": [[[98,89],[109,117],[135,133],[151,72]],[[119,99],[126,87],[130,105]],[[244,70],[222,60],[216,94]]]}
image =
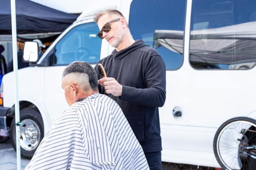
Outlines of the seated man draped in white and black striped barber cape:
{"label": "seated man draped in white and black striped barber cape", "polygon": [[52,125],[25,170],[149,170],[142,147],[120,107],[98,93],[87,62],[63,71],[70,108]]}

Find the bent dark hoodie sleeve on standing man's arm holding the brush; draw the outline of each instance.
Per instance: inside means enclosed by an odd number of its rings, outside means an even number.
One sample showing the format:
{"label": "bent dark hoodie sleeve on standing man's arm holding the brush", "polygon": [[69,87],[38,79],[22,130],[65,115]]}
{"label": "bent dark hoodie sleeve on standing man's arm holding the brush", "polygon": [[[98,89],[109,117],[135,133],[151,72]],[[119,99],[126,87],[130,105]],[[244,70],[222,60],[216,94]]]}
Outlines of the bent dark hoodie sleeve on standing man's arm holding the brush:
{"label": "bent dark hoodie sleeve on standing man's arm holding the brush", "polygon": [[159,55],[143,63],[146,88],[122,86],[120,99],[148,107],[162,107],[166,99],[166,65]]}

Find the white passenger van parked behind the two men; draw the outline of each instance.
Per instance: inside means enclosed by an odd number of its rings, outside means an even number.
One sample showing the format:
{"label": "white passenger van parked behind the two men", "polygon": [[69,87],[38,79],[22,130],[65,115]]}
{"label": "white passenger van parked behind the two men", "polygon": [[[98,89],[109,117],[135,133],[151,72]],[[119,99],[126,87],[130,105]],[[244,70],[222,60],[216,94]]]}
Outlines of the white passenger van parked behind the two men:
{"label": "white passenger van parked behind the two men", "polygon": [[[66,65],[94,66],[113,50],[97,37],[92,19],[102,6],[85,7],[37,64],[18,71],[22,156],[32,156],[68,108],[61,89]],[[255,170],[256,1],[112,0],[106,8],[121,11],[134,39],[157,49],[166,63],[162,160]],[[14,85],[13,73],[6,74],[0,127],[10,127],[15,145]]]}

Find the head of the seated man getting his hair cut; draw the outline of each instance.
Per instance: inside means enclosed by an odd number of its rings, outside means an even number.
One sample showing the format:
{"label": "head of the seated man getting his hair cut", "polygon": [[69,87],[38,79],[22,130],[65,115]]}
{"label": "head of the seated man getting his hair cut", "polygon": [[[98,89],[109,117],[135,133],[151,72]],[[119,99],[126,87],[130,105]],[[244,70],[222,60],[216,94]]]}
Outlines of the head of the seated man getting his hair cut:
{"label": "head of the seated man getting his hair cut", "polygon": [[98,92],[96,71],[87,62],[70,63],[63,71],[62,85],[69,105]]}

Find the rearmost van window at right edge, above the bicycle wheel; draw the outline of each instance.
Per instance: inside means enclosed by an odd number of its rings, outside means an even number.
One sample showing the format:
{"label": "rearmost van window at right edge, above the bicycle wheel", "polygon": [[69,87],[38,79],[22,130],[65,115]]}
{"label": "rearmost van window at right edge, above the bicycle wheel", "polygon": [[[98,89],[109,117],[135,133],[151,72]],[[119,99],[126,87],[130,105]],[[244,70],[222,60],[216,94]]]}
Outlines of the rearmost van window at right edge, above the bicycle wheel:
{"label": "rearmost van window at right edge, above the bicycle wheel", "polygon": [[193,0],[189,62],[196,69],[256,65],[256,1]]}

